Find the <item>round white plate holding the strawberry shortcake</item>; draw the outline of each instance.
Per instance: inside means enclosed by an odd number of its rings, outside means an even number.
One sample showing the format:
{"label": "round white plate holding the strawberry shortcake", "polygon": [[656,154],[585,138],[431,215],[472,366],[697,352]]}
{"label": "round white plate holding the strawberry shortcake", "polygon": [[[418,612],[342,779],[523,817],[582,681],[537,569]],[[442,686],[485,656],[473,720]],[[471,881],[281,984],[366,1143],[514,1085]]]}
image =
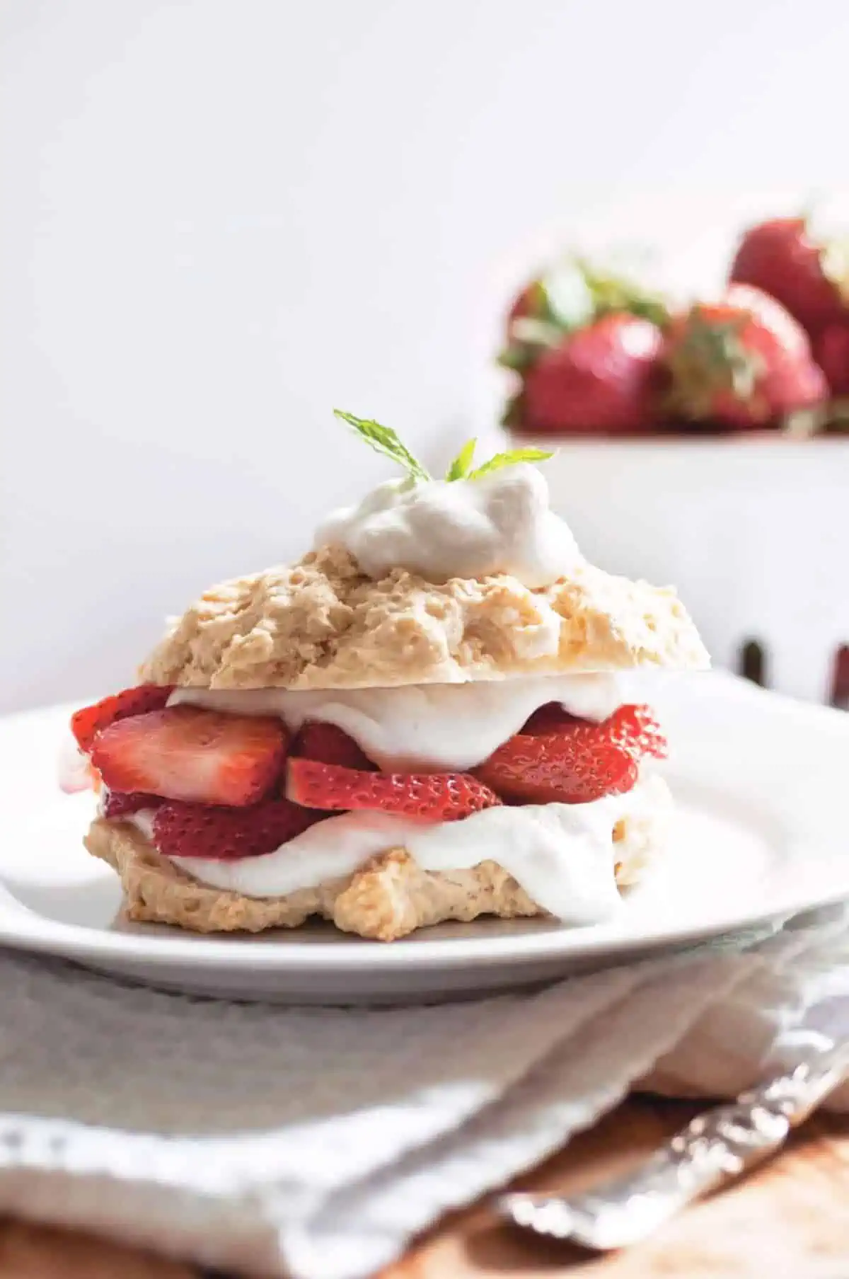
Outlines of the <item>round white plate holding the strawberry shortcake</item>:
{"label": "round white plate holding the strawberry shortcake", "polygon": [[81,844],[92,798],[56,789],[68,707],[0,720],[0,943],[202,994],[422,1000],[598,968],[849,897],[849,716],[722,675],[652,677],[650,700],[674,746],[678,813],[665,863],[619,918],[479,920],[391,945],[323,925],[210,939],[120,922],[116,877]]}

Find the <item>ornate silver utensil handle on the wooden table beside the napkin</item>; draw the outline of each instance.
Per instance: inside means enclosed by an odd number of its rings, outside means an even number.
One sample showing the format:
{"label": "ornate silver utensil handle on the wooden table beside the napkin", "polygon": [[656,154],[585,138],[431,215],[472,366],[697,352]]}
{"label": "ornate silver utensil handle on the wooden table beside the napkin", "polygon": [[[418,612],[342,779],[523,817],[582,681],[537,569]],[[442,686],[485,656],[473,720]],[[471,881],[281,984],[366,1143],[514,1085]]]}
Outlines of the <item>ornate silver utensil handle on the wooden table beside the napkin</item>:
{"label": "ornate silver utensil handle on the wooden table beside the napkin", "polygon": [[510,1193],[500,1214],[534,1234],[606,1252],[652,1234],[692,1200],[779,1150],[789,1132],[849,1074],[849,1042],[830,1044],[788,1074],[697,1115],[634,1172],[572,1198]]}

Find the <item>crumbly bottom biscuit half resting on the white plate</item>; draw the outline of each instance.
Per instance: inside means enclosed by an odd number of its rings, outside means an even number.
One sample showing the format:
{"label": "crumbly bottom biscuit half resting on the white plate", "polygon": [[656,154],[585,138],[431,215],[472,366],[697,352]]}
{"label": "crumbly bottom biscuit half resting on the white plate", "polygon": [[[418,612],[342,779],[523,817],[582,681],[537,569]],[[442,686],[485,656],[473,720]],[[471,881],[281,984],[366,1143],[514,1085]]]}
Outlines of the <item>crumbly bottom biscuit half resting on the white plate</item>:
{"label": "crumbly bottom biscuit half resting on the white plate", "polygon": [[[651,808],[625,813],[614,828],[616,881],[623,886],[637,883],[662,848],[670,797],[660,778],[655,779],[653,797]],[[389,849],[353,875],[317,888],[249,898],[197,883],[129,822],[97,819],[86,847],[118,871],[128,918],[175,923],[194,932],[297,929],[311,916],[321,916],[344,932],[394,941],[446,920],[545,913],[496,862],[432,872],[422,870],[404,848]]]}

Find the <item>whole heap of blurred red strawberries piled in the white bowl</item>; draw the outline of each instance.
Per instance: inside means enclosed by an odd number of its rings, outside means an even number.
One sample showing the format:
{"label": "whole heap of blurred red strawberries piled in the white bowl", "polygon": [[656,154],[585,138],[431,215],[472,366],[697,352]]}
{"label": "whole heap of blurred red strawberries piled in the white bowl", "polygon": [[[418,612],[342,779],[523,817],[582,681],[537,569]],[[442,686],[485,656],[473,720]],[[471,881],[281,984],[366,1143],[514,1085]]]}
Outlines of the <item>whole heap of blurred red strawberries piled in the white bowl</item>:
{"label": "whole heap of blurred red strawberries piled in the white bowl", "polygon": [[502,425],[625,443],[829,428],[849,396],[848,246],[806,219],[771,219],[743,234],[725,292],[687,304],[566,258],[509,307]]}

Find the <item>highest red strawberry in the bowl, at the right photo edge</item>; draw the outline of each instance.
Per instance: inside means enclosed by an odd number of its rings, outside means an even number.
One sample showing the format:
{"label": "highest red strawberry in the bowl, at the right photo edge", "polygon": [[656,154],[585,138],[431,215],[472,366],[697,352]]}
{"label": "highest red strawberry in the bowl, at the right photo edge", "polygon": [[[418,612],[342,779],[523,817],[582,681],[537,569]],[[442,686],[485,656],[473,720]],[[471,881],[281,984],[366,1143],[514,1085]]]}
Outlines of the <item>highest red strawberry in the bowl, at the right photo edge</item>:
{"label": "highest red strawberry in the bowl, at the right photo edge", "polygon": [[817,240],[804,217],[774,217],[747,230],[730,279],[777,298],[809,334],[849,308],[845,246]]}

